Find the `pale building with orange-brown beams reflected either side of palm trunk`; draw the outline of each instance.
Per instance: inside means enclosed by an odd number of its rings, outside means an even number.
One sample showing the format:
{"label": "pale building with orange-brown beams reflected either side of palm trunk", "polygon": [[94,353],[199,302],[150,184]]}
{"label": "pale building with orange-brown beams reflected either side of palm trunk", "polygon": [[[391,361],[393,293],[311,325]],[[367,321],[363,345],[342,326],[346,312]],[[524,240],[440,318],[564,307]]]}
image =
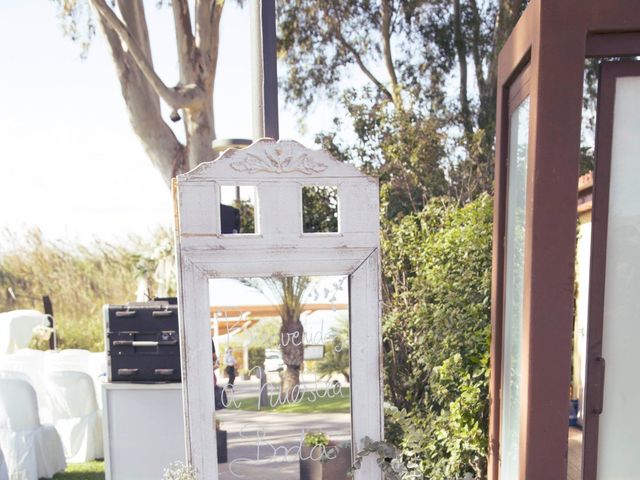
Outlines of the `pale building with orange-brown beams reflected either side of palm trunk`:
{"label": "pale building with orange-brown beams reflected either side of palm trunk", "polygon": [[[238,280],[223,278],[209,281],[211,305],[211,335],[220,355],[227,345],[242,335],[242,369],[248,369],[248,349],[252,344],[251,329],[260,321],[279,319],[276,299]],[[305,345],[324,344],[331,330],[348,318],[348,287],[346,277],[315,277],[314,284],[303,298],[301,322]],[[245,333],[248,335],[244,335]]]}

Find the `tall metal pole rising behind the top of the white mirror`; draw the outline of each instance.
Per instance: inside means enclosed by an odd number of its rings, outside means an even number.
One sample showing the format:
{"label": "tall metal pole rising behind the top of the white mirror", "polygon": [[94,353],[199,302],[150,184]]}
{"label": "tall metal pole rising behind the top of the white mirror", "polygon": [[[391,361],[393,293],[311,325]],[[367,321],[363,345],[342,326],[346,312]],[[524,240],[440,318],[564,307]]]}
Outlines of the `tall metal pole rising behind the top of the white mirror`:
{"label": "tall metal pole rising behind the top of the white mirror", "polygon": [[275,0],[251,0],[253,137],[278,139]]}

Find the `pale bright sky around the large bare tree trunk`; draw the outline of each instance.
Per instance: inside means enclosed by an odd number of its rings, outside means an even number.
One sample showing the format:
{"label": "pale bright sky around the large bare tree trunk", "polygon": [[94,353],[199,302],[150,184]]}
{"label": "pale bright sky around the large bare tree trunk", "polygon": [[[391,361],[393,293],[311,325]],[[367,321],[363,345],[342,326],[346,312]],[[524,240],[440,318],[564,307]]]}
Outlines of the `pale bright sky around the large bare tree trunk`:
{"label": "pale bright sky around the large bare tree trunk", "polygon": [[[170,9],[146,1],[154,62],[177,80]],[[227,2],[222,19],[216,128],[251,135],[248,9]],[[52,2],[0,2],[0,229],[39,227],[52,239],[116,240],[171,225],[168,188],[133,134],[109,52],[98,32],[86,60],[65,38]],[[324,106],[306,121],[280,101],[280,135],[312,146],[329,127]]]}

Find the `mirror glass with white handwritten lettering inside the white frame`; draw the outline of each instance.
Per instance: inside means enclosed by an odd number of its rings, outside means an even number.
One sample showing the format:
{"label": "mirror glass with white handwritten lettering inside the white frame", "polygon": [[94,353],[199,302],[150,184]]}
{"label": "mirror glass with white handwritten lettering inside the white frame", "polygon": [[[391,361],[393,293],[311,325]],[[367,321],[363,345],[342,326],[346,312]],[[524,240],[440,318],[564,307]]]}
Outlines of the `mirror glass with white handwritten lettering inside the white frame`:
{"label": "mirror glass with white handwritten lettering inside the white frame", "polygon": [[348,278],[209,286],[219,478],[349,478]]}

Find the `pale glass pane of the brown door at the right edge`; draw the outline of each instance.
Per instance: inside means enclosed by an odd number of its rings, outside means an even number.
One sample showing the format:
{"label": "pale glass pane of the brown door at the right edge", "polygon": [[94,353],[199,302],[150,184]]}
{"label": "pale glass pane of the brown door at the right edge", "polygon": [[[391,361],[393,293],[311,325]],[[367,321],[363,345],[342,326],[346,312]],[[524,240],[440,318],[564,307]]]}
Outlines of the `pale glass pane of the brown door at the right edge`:
{"label": "pale glass pane of the brown door at the right edge", "polygon": [[640,76],[616,79],[604,282],[599,480],[640,475]]}

